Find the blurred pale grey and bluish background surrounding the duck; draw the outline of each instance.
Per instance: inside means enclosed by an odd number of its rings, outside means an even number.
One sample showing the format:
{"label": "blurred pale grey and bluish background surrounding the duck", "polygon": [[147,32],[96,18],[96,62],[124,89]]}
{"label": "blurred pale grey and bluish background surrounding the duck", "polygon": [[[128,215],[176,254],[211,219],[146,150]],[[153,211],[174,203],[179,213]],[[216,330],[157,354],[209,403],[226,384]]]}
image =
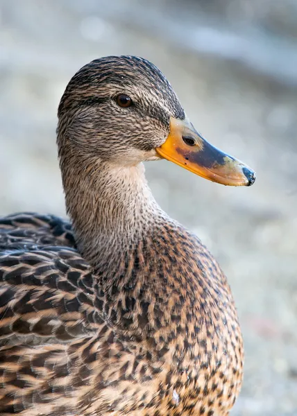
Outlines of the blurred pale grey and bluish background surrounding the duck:
{"label": "blurred pale grey and bluish background surrounding the duck", "polygon": [[57,107],[102,55],[153,61],[196,128],[257,171],[237,189],[146,166],[232,286],[246,349],[232,416],[297,415],[296,22],[296,0],[0,0],[0,214],[65,215]]}

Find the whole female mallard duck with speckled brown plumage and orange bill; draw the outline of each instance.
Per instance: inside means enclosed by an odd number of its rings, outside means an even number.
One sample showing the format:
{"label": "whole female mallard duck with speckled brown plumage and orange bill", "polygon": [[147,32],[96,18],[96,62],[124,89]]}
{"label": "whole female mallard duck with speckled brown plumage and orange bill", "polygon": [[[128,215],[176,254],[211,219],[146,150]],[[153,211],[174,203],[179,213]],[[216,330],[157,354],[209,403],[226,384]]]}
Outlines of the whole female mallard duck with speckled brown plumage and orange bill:
{"label": "whole female mallard duck with speckled brown plumage and orange bill", "polygon": [[141,162],[229,185],[253,171],[198,134],[142,58],[85,65],[58,119],[72,225],[0,221],[0,414],[228,415],[243,354],[230,288],[155,202]]}

